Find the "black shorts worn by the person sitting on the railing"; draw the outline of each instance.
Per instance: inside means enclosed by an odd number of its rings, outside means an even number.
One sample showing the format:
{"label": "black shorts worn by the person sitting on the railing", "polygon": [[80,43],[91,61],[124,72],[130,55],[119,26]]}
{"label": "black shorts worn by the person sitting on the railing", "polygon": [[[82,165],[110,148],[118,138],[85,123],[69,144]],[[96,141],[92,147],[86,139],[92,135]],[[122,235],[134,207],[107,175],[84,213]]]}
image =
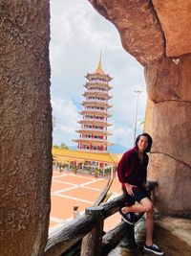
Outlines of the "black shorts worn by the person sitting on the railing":
{"label": "black shorts worn by the person sitting on the railing", "polygon": [[123,188],[122,190],[123,190],[123,195],[125,196],[125,199],[127,200],[126,205],[133,205],[133,204],[135,204],[135,201],[140,202],[140,200],[143,198],[151,199],[149,193],[145,189],[140,189],[138,187],[134,187],[133,188],[134,196],[130,196],[127,193],[125,188]]}

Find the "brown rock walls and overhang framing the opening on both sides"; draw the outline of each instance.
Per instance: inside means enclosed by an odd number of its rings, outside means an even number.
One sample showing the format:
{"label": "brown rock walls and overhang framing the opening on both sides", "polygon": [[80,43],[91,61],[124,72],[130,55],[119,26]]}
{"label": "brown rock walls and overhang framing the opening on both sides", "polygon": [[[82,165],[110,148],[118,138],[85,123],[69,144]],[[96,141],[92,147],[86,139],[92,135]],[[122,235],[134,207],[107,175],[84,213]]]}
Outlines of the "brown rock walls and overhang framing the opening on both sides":
{"label": "brown rock walls and overhang framing the opening on both sides", "polygon": [[[144,66],[153,103],[149,176],[159,181],[159,212],[188,216],[191,3],[89,2]],[[2,0],[0,25],[0,255],[43,255],[52,177],[49,1]]]}

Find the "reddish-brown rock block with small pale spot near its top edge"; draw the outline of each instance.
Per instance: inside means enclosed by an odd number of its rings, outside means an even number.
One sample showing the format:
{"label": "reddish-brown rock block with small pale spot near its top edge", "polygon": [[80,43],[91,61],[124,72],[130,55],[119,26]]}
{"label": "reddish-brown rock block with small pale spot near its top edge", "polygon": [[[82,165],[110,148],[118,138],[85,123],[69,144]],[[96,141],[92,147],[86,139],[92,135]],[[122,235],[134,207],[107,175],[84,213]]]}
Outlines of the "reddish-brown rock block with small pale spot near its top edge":
{"label": "reddish-brown rock block with small pale spot near its top edge", "polygon": [[[179,61],[176,64],[174,61]],[[161,58],[144,68],[149,98],[164,101],[191,102],[191,55],[180,58]]]}

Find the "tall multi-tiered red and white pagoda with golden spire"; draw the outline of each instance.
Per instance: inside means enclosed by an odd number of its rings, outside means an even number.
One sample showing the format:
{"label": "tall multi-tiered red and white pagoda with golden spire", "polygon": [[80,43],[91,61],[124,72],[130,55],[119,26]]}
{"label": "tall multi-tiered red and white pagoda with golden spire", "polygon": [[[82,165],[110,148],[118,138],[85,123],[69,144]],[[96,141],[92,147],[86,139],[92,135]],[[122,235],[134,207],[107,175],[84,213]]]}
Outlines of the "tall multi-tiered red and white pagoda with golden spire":
{"label": "tall multi-tiered red and white pagoda with golden spire", "polygon": [[112,89],[109,81],[112,80],[109,75],[106,75],[102,69],[101,56],[98,66],[94,73],[88,73],[84,87],[86,88],[83,96],[85,100],[82,102],[83,110],[79,112],[83,119],[78,123],[81,125],[79,130],[79,138],[75,139],[79,151],[91,152],[108,152],[108,146],[113,145],[108,142],[108,136],[112,133],[108,132],[107,128],[112,126],[108,123],[108,118],[111,117],[108,113],[108,108],[112,105],[108,101],[112,98],[108,91]]}

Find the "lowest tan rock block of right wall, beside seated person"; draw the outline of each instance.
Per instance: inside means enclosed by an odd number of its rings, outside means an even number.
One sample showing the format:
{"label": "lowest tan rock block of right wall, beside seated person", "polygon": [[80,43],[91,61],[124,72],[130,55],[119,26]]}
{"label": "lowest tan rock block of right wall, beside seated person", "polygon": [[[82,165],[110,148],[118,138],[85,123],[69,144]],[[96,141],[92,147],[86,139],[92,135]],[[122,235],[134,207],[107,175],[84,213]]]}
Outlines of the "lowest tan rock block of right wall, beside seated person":
{"label": "lowest tan rock block of right wall, beside seated person", "polygon": [[148,176],[159,183],[155,193],[159,213],[191,217],[189,166],[165,153],[151,153]]}

